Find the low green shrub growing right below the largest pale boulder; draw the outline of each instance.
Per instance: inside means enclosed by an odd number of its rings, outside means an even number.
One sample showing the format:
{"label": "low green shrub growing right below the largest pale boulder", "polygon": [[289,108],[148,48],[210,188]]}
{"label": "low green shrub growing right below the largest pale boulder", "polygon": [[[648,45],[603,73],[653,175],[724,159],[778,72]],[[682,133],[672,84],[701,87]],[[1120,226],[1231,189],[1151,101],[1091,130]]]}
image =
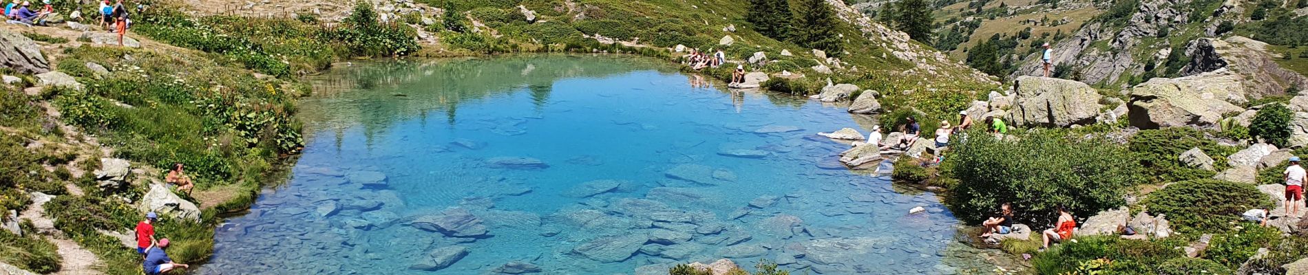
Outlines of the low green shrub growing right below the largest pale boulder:
{"label": "low green shrub growing right below the largest pale boulder", "polygon": [[1219,146],[1215,141],[1205,138],[1199,130],[1184,126],[1141,130],[1131,136],[1127,147],[1139,159],[1147,180],[1152,182],[1210,179],[1216,175],[1213,171],[1182,164],[1180,155],[1186,150],[1198,147],[1215,160],[1214,168],[1218,171],[1224,168],[1226,156],[1236,151],[1233,147]]}

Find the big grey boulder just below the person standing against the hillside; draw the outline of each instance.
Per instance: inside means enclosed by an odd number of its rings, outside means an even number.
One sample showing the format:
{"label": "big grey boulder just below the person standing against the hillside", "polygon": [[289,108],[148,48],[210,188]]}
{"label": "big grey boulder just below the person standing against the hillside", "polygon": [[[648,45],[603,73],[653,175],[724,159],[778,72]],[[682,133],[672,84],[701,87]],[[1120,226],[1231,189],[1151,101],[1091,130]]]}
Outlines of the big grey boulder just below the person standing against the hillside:
{"label": "big grey boulder just below the person standing against the hillside", "polygon": [[1018,77],[1012,125],[1071,126],[1095,123],[1099,91],[1079,81]]}

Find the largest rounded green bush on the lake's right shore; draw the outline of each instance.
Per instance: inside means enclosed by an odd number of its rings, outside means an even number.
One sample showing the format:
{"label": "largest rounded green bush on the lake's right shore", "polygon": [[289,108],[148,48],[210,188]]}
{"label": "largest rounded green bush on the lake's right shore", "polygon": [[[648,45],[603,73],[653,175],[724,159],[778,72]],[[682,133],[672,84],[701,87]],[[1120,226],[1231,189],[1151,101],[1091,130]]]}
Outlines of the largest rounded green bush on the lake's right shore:
{"label": "largest rounded green bush on the lake's right shore", "polygon": [[[1011,133],[1011,132],[1010,132]],[[1067,138],[1056,130],[1033,130],[997,139],[973,128],[967,139],[951,145],[942,171],[957,180],[947,186],[946,202],[955,216],[976,224],[1001,203],[1010,202],[1015,219],[1052,224],[1058,206],[1074,216],[1090,216],[1125,205],[1137,184],[1139,162],[1124,147],[1101,137]]]}

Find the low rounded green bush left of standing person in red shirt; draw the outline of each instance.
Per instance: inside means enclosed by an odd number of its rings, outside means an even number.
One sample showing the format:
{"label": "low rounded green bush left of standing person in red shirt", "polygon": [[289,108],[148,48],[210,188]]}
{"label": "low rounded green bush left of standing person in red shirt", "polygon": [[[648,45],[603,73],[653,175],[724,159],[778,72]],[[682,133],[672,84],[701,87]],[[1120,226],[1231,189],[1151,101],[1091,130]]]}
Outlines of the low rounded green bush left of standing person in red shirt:
{"label": "low rounded green bush left of standing person in red shirt", "polygon": [[1250,209],[1271,207],[1266,194],[1248,184],[1189,180],[1167,185],[1144,199],[1150,212],[1167,214],[1181,233],[1222,232]]}

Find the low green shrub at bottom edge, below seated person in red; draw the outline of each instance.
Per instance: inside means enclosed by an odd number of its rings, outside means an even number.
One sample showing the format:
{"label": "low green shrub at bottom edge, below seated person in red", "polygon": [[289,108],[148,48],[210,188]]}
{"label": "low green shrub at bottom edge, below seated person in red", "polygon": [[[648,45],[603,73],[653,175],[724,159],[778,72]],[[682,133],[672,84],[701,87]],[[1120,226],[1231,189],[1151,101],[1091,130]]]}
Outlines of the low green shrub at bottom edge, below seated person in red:
{"label": "low green shrub at bottom edge, below seated person in red", "polygon": [[1065,274],[1083,262],[1109,259],[1100,266],[1104,274],[1156,274],[1164,262],[1184,258],[1180,249],[1164,241],[1126,240],[1117,236],[1084,236],[1076,242],[1062,242],[1031,259],[1037,274]]}

